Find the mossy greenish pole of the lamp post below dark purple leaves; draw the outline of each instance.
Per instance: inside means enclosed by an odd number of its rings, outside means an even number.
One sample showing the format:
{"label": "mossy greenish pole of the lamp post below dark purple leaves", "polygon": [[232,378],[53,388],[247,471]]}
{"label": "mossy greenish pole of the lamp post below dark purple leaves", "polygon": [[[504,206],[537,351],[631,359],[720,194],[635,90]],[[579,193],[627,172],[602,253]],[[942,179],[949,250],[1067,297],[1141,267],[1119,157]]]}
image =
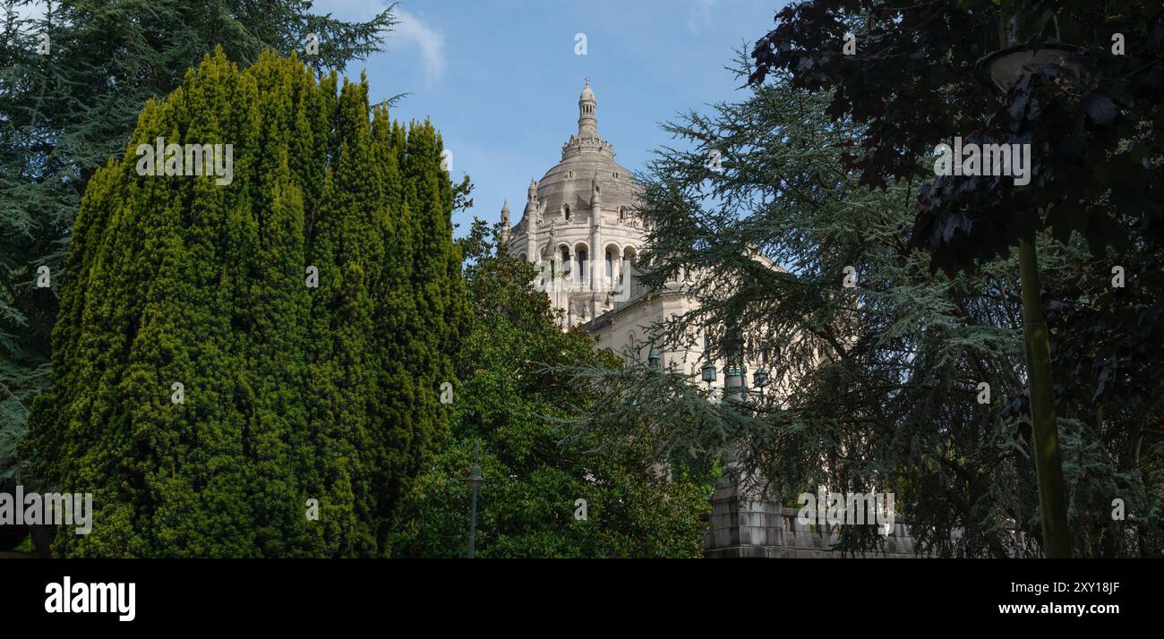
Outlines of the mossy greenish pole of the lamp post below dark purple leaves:
{"label": "mossy greenish pole of the lamp post below dark purple leaves", "polygon": [[1035,474],[1038,477],[1043,553],[1049,559],[1070,559],[1067,502],[1063,491],[1059,432],[1055,416],[1055,385],[1051,381],[1051,345],[1039,299],[1034,232],[1018,242],[1018,272],[1022,277],[1023,334],[1027,342],[1030,416],[1035,431]]}

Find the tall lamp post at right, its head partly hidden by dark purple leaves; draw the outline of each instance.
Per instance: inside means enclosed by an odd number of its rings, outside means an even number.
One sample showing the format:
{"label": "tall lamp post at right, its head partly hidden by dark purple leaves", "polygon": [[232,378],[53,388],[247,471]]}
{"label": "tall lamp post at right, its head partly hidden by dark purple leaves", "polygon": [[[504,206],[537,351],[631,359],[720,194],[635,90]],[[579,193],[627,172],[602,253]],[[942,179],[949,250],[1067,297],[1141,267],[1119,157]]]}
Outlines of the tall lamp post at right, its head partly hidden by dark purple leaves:
{"label": "tall lamp post at right, its head partly hidden by dark purple leaves", "polygon": [[[1078,73],[1081,64],[1077,52],[1077,48],[1064,44],[1009,47],[979,59],[974,64],[974,77],[999,93],[1008,94],[1022,76],[1038,64],[1059,64]],[[1034,229],[1018,237],[1018,276],[1022,283],[1023,336],[1030,376],[1030,416],[1035,435],[1035,474],[1038,478],[1043,549],[1046,558],[1070,559],[1067,502],[1063,490],[1055,382],[1051,378],[1051,345],[1039,299]]]}

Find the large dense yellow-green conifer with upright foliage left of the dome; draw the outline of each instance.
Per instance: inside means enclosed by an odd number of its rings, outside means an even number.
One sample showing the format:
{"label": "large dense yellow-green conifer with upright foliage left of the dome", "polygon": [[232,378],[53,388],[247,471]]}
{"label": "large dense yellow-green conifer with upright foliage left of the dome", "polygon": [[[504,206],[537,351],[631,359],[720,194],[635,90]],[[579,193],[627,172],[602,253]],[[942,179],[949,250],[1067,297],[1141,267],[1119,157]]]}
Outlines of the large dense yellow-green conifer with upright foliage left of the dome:
{"label": "large dense yellow-green conifer with upright foliage left of the dome", "polygon": [[[219,51],[94,175],[27,446],[94,494],[93,532],[62,530],[58,552],[386,553],[447,428],[463,286],[433,262],[457,258],[435,130],[369,121],[367,83],[336,86]],[[140,175],[157,137],[233,144],[233,180]]]}

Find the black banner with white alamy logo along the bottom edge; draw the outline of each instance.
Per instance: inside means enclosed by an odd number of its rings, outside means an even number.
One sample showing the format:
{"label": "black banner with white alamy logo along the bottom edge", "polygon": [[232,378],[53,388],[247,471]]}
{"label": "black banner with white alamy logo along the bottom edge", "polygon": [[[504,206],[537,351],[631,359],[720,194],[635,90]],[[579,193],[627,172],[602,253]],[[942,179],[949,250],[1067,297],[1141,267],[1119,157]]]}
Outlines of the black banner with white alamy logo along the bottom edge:
{"label": "black banner with white alamy logo along the bottom edge", "polygon": [[589,615],[599,611],[606,611],[603,617],[617,611],[680,627],[701,617],[711,622],[724,612],[746,618],[754,610],[774,611],[774,620],[824,622],[838,631],[888,630],[932,618],[947,629],[1059,627],[1157,618],[1158,587],[1148,576],[1155,566],[1150,560],[654,561],[651,566],[10,560],[0,562],[0,601],[5,619],[48,631],[94,625],[214,629],[232,627],[240,619],[301,629],[338,619],[383,623],[385,618],[396,619],[390,626],[403,631],[409,616],[440,609],[448,612],[436,618],[452,625],[476,618],[463,616],[466,610],[481,618],[560,615],[570,624],[583,611],[591,619]]}

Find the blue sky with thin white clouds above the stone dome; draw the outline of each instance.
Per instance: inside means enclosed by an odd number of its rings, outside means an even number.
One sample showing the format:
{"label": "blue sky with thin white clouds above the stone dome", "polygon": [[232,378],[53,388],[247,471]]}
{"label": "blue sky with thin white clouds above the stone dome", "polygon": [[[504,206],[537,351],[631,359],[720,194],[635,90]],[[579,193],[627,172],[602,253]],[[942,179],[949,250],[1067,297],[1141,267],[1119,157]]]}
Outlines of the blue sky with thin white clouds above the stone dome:
{"label": "blue sky with thin white clouds above the stone dome", "polygon": [[[688,109],[741,99],[724,66],[733,49],[772,28],[780,0],[410,0],[385,51],[346,70],[367,70],[374,101],[411,93],[398,119],[432,119],[453,151],[456,178],[469,173],[473,216],[517,223],[530,178],[561,158],[577,129],[577,99],[590,77],[598,134],[616,159],[643,169],[670,142],[659,123]],[[317,0],[317,13],[367,19],[383,0]],[[575,55],[575,34],[587,55]]]}

